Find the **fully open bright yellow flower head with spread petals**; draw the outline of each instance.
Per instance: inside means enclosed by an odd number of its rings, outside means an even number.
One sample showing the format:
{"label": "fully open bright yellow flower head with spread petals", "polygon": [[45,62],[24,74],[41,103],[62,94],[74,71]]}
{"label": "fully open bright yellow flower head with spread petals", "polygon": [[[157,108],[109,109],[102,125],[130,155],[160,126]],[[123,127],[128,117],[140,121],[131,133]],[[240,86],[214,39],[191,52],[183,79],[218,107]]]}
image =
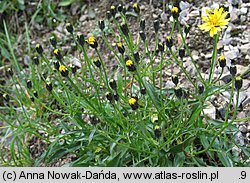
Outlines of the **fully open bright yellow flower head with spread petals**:
{"label": "fully open bright yellow flower head with spread petals", "polygon": [[199,25],[201,30],[210,31],[210,36],[214,37],[221,29],[226,28],[230,18],[226,19],[228,12],[223,12],[223,8],[215,8],[214,10],[207,9],[206,16],[202,16],[202,20],[205,22]]}

